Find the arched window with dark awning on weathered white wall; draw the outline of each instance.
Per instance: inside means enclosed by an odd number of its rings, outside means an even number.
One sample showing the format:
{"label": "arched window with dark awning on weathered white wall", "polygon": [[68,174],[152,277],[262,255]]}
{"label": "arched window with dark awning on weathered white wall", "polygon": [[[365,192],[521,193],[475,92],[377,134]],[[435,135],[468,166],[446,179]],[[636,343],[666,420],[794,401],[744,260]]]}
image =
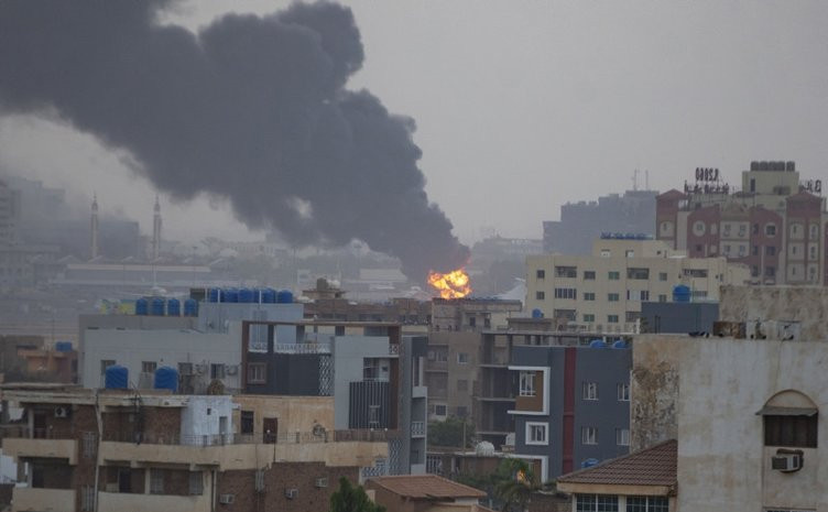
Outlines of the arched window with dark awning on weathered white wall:
{"label": "arched window with dark awning on weathered white wall", "polygon": [[765,446],[817,447],[819,411],[805,394],[794,390],[776,393],[756,414],[763,417]]}

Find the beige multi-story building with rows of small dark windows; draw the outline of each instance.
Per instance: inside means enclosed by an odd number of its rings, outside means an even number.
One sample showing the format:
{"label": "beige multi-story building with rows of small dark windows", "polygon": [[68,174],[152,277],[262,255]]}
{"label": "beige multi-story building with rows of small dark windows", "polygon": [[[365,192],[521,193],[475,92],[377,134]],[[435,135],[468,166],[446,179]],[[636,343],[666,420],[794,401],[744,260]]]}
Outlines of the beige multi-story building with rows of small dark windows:
{"label": "beige multi-story building with rows of small dark windows", "polygon": [[590,255],[526,259],[526,309],[560,326],[596,333],[635,333],[642,302],[672,302],[676,285],[693,301],[718,301],[719,286],[743,284],[745,265],[724,258],[687,258],[661,240],[601,238]]}

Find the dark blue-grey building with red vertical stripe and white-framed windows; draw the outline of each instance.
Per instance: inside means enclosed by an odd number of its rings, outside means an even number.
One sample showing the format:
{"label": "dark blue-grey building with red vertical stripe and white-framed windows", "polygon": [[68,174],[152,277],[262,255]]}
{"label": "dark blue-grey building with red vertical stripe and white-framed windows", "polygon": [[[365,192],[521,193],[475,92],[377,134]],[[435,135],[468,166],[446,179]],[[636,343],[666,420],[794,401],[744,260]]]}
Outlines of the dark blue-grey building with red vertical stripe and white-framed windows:
{"label": "dark blue-grey building with red vertical stripe and white-framed windows", "polygon": [[541,460],[542,481],[629,451],[630,352],[623,341],[512,347],[514,456]]}

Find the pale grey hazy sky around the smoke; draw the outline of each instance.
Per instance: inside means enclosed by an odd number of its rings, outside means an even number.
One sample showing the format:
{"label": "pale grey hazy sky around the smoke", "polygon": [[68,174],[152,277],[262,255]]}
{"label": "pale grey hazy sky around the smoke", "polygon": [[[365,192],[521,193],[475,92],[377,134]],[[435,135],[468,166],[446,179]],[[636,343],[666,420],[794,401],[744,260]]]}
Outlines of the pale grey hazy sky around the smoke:
{"label": "pale grey hazy sky around the smoke", "polygon": [[[697,166],[739,184],[751,160],[826,177],[828,2],[345,3],[366,51],[349,87],[416,120],[426,190],[464,241],[484,226],[540,238],[562,204],[630,188],[635,168],[658,189]],[[164,21],[285,4],[198,0]],[[146,232],[155,193],[128,160],[69,127],[0,119],[0,165],[96,190]],[[220,200],[163,208],[170,237],[250,238]]]}

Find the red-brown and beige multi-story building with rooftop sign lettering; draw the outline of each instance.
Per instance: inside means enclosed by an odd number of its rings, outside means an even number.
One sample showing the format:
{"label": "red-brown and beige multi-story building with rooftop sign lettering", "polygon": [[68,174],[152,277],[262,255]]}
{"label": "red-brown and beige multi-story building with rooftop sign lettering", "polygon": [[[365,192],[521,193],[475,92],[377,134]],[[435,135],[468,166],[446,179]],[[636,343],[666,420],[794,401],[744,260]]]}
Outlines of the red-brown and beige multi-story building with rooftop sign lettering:
{"label": "red-brown and beige multi-story building with rooftop sign lettering", "polygon": [[718,179],[718,170],[700,171],[702,182],[656,198],[660,240],[691,258],[743,263],[753,283],[828,284],[828,213],[819,181],[800,183],[794,162],[751,162],[736,192],[704,181],[705,171]]}

